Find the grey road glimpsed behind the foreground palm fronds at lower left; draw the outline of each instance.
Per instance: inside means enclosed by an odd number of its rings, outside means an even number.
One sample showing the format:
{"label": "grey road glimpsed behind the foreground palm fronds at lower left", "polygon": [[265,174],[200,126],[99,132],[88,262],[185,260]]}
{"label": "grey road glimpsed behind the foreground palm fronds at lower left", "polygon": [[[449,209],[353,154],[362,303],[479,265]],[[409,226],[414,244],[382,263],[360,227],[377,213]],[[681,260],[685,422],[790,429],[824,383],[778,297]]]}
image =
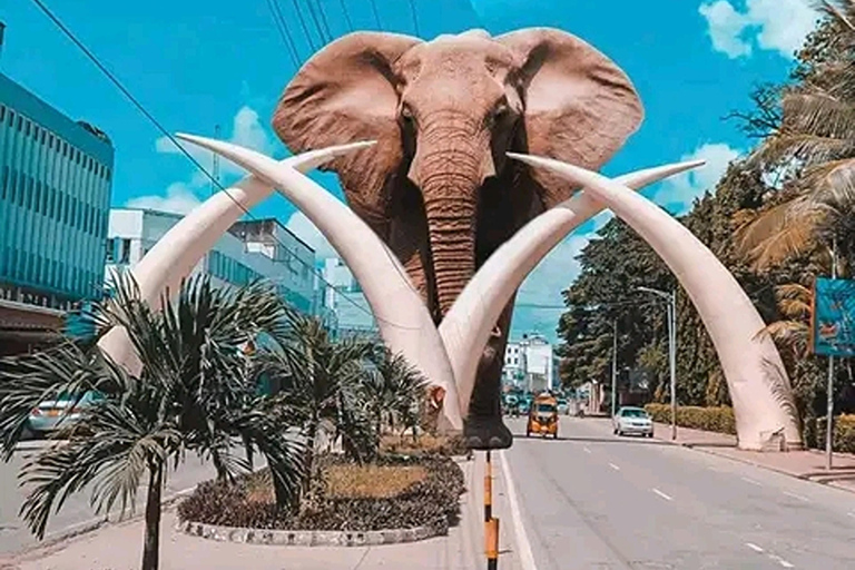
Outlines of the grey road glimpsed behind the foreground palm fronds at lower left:
{"label": "grey road glimpsed behind the foreground palm fronds at lower left", "polygon": [[[26,491],[18,487],[17,478],[27,458],[46,444],[48,443],[45,441],[24,442],[22,450],[17,452],[9,463],[0,463],[0,556],[38,542],[27,529],[26,523],[18,518]],[[215,471],[209,463],[203,463],[198,458],[188,455],[187,461],[177,471],[170,472],[164,494],[194,488],[200,481],[214,476]],[[48,534],[94,522],[98,517],[89,505],[90,497],[91,493],[88,491],[69,497],[62,510],[50,518]],[[137,513],[141,513],[145,508],[145,489],[141,489],[137,497]],[[118,517],[111,515],[110,520],[118,520]]]}

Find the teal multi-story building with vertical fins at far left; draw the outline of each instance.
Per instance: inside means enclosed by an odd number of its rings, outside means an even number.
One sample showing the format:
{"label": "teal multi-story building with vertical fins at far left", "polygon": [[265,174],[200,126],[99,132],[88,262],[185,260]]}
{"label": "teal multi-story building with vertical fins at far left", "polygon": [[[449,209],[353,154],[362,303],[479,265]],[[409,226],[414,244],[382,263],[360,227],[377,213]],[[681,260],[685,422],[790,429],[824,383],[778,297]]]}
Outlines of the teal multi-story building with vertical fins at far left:
{"label": "teal multi-story building with vertical fins at far left", "polygon": [[0,73],[0,351],[100,295],[112,167],[101,130]]}

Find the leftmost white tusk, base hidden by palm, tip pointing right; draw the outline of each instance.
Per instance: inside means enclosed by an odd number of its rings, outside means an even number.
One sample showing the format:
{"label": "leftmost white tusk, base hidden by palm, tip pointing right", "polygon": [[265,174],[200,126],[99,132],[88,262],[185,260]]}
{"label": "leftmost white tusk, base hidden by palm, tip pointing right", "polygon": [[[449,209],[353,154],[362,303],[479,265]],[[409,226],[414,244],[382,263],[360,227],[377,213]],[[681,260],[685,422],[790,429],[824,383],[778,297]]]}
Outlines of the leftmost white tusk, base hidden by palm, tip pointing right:
{"label": "leftmost white tusk, base hidden by palm, tip pointing right", "polygon": [[[288,157],[282,164],[308,171],[336,156],[370,145],[371,142],[355,142],[313,150]],[[234,187],[215,194],[181,218],[131,271],[139,286],[140,298],[154,306],[163,301],[167,291],[173,296],[177,295],[181,281],[193,272],[214,244],[246,210],[272,193],[271,185],[255,176],[247,176]],[[125,328],[111,328],[99,340],[98,346],[131,374],[139,374],[141,365]]]}

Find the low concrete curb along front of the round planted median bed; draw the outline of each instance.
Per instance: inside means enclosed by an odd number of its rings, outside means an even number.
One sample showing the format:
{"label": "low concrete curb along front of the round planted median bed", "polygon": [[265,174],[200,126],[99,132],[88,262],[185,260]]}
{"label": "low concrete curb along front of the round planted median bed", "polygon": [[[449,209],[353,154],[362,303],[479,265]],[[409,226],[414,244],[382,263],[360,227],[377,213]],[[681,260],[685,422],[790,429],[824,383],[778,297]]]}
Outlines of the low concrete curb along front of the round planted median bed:
{"label": "low concrete curb along front of the round planted median bed", "polygon": [[440,524],[414,529],[376,531],[269,530],[219,527],[204,522],[179,521],[176,530],[218,542],[267,544],[278,547],[377,547],[416,542],[444,534]]}

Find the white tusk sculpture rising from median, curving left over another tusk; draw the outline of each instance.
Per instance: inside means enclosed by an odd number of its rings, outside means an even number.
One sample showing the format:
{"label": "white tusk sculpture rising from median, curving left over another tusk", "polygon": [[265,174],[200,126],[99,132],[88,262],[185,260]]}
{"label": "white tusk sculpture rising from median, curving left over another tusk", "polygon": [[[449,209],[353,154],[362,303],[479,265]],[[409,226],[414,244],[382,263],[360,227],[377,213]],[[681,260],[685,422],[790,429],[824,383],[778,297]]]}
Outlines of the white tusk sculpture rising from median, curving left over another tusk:
{"label": "white tusk sculpture rising from median, curving left over another tusk", "polygon": [[228,142],[190,135],[177,137],[217,153],[281,188],[317,226],[360,283],[386,345],[406,357],[432,384],[445,390],[444,419],[461,430],[460,399],[442,338],[403,266],[374,230],[345,204],[288,165]]}

